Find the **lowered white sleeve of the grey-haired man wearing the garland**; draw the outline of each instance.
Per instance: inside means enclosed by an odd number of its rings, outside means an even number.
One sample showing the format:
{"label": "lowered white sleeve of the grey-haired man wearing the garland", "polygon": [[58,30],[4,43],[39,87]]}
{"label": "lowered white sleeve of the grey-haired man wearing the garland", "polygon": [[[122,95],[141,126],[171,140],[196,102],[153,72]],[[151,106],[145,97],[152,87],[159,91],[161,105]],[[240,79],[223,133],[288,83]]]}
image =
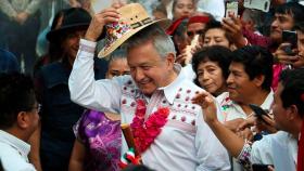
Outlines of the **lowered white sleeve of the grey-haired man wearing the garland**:
{"label": "lowered white sleeve of the grey-haired man wearing the garland", "polygon": [[206,122],[204,122],[202,113],[197,116],[195,121],[195,147],[199,161],[197,171],[230,170],[228,153]]}

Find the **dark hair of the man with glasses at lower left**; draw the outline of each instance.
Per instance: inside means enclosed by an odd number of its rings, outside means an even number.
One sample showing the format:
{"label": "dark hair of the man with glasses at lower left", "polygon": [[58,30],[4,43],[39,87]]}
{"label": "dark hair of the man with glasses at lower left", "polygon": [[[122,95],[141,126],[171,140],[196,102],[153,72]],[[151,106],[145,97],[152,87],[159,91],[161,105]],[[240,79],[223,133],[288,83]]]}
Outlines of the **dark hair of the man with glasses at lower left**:
{"label": "dark hair of the man with glasses at lower left", "polygon": [[11,128],[17,114],[31,110],[35,103],[34,82],[29,76],[0,74],[0,129]]}

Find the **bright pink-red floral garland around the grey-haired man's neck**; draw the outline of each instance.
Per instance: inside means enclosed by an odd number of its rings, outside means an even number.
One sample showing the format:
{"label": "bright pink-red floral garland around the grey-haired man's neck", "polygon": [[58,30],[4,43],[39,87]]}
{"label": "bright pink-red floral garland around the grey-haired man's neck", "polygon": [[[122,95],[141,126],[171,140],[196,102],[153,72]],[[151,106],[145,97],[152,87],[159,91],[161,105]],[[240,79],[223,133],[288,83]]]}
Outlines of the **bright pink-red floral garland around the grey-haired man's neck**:
{"label": "bright pink-red floral garland around the grey-haired man's neck", "polygon": [[161,133],[162,128],[167,122],[169,109],[167,107],[159,108],[149,116],[144,121],[145,103],[143,100],[137,100],[137,108],[135,118],[130,124],[135,144],[140,153],[143,153],[154,142],[155,137]]}

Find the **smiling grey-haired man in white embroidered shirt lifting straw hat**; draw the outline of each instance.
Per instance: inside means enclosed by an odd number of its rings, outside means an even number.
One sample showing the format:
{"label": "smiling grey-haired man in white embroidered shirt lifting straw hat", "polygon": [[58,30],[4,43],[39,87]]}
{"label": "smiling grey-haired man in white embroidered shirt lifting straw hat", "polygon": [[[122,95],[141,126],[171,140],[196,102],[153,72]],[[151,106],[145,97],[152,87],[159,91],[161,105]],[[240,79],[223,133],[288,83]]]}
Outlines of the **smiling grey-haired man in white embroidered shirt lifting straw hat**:
{"label": "smiling grey-haired man in white embroidered shirt lifting straw hat", "polygon": [[[187,79],[181,67],[174,63],[175,49],[170,38],[148,15],[142,17],[144,13],[140,4],[128,4],[118,10],[106,9],[93,17],[85,39],[80,40],[68,80],[72,100],[88,108],[121,114],[123,123],[135,123],[134,118],[144,118],[144,123],[134,128],[134,131],[145,129],[144,126],[155,126],[151,123],[153,117],[150,116],[156,114],[152,113],[160,107],[167,108],[169,114],[165,124],[154,127],[161,132],[150,136],[152,143],[148,143],[147,148],[141,150],[143,163],[162,171],[229,170],[225,148],[203,121],[201,108],[190,102],[191,97],[203,90]],[[126,35],[137,30],[129,39],[126,38],[128,40],[124,44],[130,76],[112,80],[93,79],[93,52],[104,25],[112,34],[119,31],[115,37],[121,37],[105,45],[105,54],[106,48],[123,43],[122,39]],[[138,26],[141,30],[138,30]],[[137,111],[138,100],[147,104],[147,110],[140,117]],[[151,124],[147,124],[148,121]],[[140,135],[135,134],[135,137]]]}

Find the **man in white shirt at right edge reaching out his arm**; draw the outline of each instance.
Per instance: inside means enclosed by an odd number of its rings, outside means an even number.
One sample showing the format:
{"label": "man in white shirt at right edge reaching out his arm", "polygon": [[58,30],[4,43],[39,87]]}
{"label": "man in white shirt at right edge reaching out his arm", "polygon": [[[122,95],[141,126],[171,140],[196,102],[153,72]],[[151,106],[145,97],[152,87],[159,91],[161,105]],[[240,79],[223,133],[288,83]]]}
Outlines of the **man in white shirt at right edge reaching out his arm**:
{"label": "man in white shirt at right edge reaching out his arm", "polygon": [[303,170],[304,68],[283,70],[274,96],[275,126],[281,131],[265,135],[252,145],[217,120],[210,94],[202,93],[194,101],[203,107],[204,120],[213,132],[242,165],[249,168],[252,163],[273,165],[276,171]]}

